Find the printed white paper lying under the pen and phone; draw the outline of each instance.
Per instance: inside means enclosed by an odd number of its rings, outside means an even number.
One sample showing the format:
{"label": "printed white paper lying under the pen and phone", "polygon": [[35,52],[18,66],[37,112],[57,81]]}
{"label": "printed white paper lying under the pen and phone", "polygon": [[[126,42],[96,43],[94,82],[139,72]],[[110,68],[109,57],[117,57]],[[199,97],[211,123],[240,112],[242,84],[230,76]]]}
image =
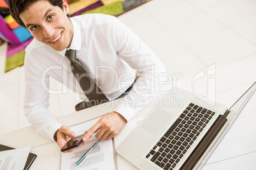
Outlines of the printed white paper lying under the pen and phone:
{"label": "printed white paper lying under the pen and phone", "polygon": [[[78,124],[70,129],[76,133],[76,136],[83,134],[89,128],[91,128],[98,119],[94,119],[83,124]],[[73,152],[61,154],[61,169],[87,169],[87,170],[101,170],[101,169],[115,169],[115,148],[113,147],[112,140],[101,140],[90,154],[82,160],[82,162],[76,166],[76,162],[96,143],[97,139],[94,135],[90,140],[80,148],[77,148]]]}

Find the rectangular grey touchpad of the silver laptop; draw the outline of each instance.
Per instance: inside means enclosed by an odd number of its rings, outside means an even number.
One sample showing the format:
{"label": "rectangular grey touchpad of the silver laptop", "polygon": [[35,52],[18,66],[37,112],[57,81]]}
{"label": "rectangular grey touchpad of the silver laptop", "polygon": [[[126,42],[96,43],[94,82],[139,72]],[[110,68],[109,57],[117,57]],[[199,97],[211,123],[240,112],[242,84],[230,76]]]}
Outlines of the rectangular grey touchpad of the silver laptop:
{"label": "rectangular grey touchpad of the silver laptop", "polygon": [[146,118],[146,121],[141,125],[141,128],[153,135],[156,135],[159,133],[160,129],[164,128],[164,125],[171,117],[171,114],[157,109],[155,112],[153,112],[153,114]]}

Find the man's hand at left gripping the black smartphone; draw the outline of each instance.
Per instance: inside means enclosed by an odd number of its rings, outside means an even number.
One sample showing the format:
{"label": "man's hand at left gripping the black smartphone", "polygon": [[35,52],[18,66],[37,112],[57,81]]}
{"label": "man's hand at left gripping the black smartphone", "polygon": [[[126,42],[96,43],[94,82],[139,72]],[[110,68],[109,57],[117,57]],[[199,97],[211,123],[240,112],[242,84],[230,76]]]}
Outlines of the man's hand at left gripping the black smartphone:
{"label": "man's hand at left gripping the black smartphone", "polygon": [[[68,126],[61,126],[57,133],[57,143],[60,148],[64,147],[64,145],[71,139],[76,138],[76,134],[68,128]],[[72,152],[75,148],[67,150],[66,152]]]}

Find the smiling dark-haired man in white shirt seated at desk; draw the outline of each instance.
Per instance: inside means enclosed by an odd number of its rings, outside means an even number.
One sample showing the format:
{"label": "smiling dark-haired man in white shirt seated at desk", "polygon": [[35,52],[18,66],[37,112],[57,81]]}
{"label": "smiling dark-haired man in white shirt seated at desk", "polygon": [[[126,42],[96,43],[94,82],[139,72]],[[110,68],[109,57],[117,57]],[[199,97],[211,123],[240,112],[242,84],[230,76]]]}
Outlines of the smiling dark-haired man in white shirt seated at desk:
{"label": "smiling dark-haired man in white shirt seated at desk", "polygon": [[65,0],[9,0],[9,5],[11,16],[34,37],[25,50],[25,115],[38,133],[57,141],[60,148],[67,136],[75,138],[76,134],[48,111],[45,87],[53,77],[69,89],[83,91],[65,56],[69,49],[76,50],[76,58],[108,100],[122,96],[136,74],[140,76],[125,100],[85,133],[83,143],[96,132],[96,138],[113,138],[143,108],[132,105],[132,101],[149,100],[157,94],[150,82],[165,72],[164,65],[117,18],[101,14],[69,18]]}

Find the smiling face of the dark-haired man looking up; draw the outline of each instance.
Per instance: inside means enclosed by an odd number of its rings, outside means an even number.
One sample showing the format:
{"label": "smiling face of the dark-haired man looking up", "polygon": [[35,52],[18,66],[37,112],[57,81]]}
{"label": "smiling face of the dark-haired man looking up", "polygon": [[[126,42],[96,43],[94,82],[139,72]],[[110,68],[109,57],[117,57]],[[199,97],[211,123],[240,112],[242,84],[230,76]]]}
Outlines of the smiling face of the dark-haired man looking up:
{"label": "smiling face of the dark-haired man looking up", "polygon": [[48,1],[38,1],[19,16],[36,40],[62,51],[70,46],[74,31],[68,13],[66,1],[63,10]]}

